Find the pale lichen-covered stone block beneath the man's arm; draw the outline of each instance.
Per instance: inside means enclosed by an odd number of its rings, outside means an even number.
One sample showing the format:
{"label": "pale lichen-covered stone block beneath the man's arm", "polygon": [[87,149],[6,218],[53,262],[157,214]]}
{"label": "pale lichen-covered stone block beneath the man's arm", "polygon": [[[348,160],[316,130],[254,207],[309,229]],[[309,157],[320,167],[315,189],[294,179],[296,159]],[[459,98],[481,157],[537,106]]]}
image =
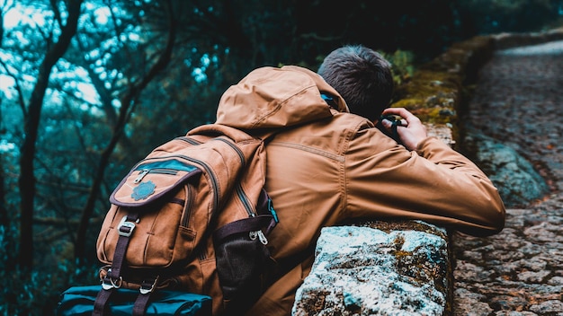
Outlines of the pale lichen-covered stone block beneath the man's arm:
{"label": "pale lichen-covered stone block beneath the man's arm", "polygon": [[323,228],[292,314],[441,316],[448,300],[446,232]]}

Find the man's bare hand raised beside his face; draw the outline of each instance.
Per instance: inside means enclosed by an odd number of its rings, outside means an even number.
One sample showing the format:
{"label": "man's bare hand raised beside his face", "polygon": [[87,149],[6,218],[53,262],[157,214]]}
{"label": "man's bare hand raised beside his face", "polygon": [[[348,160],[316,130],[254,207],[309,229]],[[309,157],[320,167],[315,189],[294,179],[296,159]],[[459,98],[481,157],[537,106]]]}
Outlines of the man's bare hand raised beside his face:
{"label": "man's bare hand raised beside his face", "polygon": [[[413,113],[405,108],[388,108],[383,110],[382,115],[397,115],[401,117],[401,124],[397,126],[397,134],[401,143],[407,147],[408,150],[416,150],[418,143],[422,142],[428,136],[426,127]],[[392,124],[387,119],[381,121],[383,127],[388,130],[391,129]]]}

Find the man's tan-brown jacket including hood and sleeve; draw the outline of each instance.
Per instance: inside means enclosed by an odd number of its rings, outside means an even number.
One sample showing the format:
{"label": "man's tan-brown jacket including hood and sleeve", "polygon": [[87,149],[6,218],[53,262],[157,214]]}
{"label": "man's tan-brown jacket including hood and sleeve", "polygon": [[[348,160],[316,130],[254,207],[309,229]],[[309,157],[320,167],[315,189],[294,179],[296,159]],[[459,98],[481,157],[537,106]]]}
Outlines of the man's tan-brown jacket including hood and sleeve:
{"label": "man's tan-brown jacket including hood and sleeve", "polygon": [[[319,91],[335,95],[339,109]],[[408,151],[349,113],[339,94],[308,69],[255,69],[223,94],[217,123],[257,135],[278,131],[266,145],[266,189],[280,218],[269,248],[282,266],[300,259],[283,267],[289,272],[249,315],[290,314],[324,226],[369,217],[420,219],[471,235],[504,227],[505,206],[474,163],[434,137]]]}

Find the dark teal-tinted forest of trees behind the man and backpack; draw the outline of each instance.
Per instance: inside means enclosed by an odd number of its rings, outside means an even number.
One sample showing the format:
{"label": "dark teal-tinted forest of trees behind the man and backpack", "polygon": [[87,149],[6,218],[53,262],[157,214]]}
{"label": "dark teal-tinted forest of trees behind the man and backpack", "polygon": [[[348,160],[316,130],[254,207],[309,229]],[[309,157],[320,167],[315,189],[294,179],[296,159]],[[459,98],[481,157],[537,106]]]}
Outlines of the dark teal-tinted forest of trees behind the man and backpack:
{"label": "dark teal-tinted forest of trees behind the man and backpack", "polygon": [[563,0],[0,0],[0,314],[96,284],[112,190],[252,69],[362,44],[401,84],[454,42],[562,21]]}

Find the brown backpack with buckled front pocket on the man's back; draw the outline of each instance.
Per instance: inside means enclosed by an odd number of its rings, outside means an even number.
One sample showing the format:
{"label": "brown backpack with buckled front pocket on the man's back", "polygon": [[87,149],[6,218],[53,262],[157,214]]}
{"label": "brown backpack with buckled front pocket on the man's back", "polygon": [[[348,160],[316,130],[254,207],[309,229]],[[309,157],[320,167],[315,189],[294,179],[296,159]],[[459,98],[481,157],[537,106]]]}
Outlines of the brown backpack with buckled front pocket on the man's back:
{"label": "brown backpack with buckled front pocket on the man's back", "polygon": [[264,181],[264,141],[237,128],[196,127],[154,149],[110,197],[94,314],[118,288],[139,291],[133,314],[159,289],[209,295],[213,314],[245,311],[273,265],[266,236],[277,216]]}

